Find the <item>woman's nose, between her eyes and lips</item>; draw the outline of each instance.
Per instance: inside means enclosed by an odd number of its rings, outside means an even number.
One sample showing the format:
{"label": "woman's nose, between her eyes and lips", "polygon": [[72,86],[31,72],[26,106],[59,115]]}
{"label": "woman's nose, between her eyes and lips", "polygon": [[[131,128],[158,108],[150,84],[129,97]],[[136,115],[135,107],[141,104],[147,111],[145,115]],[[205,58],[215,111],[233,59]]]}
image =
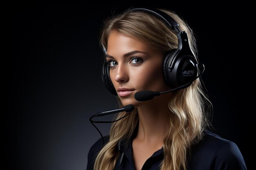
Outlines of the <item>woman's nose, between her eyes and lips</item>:
{"label": "woman's nose, between her eyes and lips", "polygon": [[128,69],[126,68],[125,65],[119,64],[117,68],[115,69],[115,81],[119,83],[124,83],[129,80],[129,75],[128,75]]}

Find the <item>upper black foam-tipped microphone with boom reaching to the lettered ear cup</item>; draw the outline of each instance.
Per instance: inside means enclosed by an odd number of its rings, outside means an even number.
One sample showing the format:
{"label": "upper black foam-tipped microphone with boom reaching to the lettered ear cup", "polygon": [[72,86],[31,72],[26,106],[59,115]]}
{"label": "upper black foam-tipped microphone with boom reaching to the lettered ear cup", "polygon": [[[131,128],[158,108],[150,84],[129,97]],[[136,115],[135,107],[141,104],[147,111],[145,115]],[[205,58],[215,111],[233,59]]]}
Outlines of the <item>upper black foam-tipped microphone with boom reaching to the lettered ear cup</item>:
{"label": "upper black foam-tipped microphone with boom reaching to the lettered ear cup", "polygon": [[202,75],[202,73],[204,72],[204,64],[200,64],[198,65],[198,68],[202,69],[201,73],[191,79],[191,81],[187,82],[186,84],[182,85],[182,86],[179,86],[177,88],[173,88],[171,90],[168,90],[168,91],[163,91],[163,92],[159,92],[159,91],[139,91],[137,93],[135,93],[134,95],[134,98],[137,100],[137,101],[147,101],[147,100],[151,100],[153,99],[155,96],[159,96],[161,94],[164,94],[164,93],[168,93],[168,92],[171,92],[171,91],[176,91],[176,90],[179,90],[181,88],[185,88],[186,86],[188,86],[189,84],[191,84],[191,82],[193,82],[195,79],[197,79],[198,77],[200,77]]}

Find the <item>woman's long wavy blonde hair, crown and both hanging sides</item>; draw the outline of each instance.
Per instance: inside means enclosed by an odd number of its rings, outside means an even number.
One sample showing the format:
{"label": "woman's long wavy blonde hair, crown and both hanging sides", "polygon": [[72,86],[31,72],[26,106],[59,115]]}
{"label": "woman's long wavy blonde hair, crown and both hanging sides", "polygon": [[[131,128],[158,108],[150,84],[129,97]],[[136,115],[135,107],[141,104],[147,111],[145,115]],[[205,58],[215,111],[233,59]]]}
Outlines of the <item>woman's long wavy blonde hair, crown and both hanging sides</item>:
{"label": "woman's long wavy blonde hair, crown and both hanging sides", "polygon": [[[190,47],[197,57],[195,37],[193,31],[186,22],[176,13],[166,9],[160,9],[170,15],[179,25],[181,31],[186,31]],[[119,15],[107,18],[101,32],[100,43],[107,48],[108,37],[112,31],[135,37],[153,49],[170,51],[178,46],[177,35],[166,24],[154,15],[145,12],[124,11]],[[124,107],[117,97],[120,107]],[[164,139],[164,159],[160,170],[186,170],[187,156],[192,144],[198,142],[203,135],[203,130],[209,124],[205,114],[205,104],[209,102],[204,94],[201,82],[196,79],[189,87],[173,93],[169,100],[170,110],[168,135]],[[119,119],[126,112],[119,113],[115,119]],[[94,170],[113,170],[119,157],[117,144],[121,139],[130,139],[138,124],[139,116],[137,108],[122,121],[116,121],[110,129],[108,143],[97,155]]]}

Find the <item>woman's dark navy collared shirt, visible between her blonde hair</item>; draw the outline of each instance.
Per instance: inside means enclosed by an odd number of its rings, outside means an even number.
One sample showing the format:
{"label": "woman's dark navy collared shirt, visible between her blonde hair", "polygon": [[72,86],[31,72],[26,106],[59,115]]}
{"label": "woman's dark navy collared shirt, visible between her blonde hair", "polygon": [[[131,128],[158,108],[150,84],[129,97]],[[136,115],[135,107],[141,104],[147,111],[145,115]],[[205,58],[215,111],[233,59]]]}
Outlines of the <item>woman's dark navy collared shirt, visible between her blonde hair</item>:
{"label": "woman's dark navy collared shirt, visible between her blonde hair", "polygon": [[[105,137],[105,141],[108,141],[108,136]],[[87,170],[93,170],[95,158],[102,147],[102,139],[99,139],[90,148]],[[119,150],[120,156],[115,170],[135,170],[132,139],[120,141],[117,150]],[[159,164],[163,159],[164,153],[161,148],[146,160],[141,170],[159,170]],[[187,170],[247,170],[238,146],[209,130],[205,131],[203,139],[198,144],[191,146],[191,153],[187,161]]]}

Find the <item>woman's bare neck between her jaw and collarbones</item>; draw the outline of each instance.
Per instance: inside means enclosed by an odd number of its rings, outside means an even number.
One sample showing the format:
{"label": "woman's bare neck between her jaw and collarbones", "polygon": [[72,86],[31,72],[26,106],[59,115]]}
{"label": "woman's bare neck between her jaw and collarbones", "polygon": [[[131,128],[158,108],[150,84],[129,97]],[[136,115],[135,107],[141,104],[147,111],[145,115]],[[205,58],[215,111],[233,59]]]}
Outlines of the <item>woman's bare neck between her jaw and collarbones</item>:
{"label": "woman's bare neck between her jaw and collarbones", "polygon": [[137,139],[147,143],[163,143],[169,129],[168,101],[170,94],[161,95],[139,106],[139,129]]}

